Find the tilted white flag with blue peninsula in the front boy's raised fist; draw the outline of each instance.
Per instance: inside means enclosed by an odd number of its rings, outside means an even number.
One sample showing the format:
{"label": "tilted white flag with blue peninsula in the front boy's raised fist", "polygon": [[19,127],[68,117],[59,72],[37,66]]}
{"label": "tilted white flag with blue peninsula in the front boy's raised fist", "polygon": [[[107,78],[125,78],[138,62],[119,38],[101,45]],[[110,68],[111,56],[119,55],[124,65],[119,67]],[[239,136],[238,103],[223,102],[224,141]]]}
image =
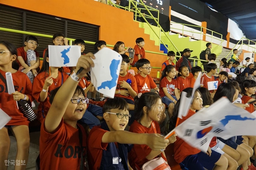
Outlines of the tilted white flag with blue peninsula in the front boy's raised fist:
{"label": "tilted white flag with blue peninsula in the front boy's raised fist", "polygon": [[104,96],[114,98],[122,57],[110,48],[103,48],[94,54],[91,68],[91,83]]}

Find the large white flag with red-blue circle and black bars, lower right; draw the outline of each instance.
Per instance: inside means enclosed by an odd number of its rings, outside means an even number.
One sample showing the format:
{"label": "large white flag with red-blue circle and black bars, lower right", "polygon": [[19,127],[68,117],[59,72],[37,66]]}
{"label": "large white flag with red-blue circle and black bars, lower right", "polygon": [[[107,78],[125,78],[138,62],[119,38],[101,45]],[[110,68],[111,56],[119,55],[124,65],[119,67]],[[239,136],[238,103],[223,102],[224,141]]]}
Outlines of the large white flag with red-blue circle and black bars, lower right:
{"label": "large white flag with red-blue circle and black bars, lower right", "polygon": [[256,136],[256,117],[223,97],[189,117],[174,130],[190,146],[206,152],[213,137]]}

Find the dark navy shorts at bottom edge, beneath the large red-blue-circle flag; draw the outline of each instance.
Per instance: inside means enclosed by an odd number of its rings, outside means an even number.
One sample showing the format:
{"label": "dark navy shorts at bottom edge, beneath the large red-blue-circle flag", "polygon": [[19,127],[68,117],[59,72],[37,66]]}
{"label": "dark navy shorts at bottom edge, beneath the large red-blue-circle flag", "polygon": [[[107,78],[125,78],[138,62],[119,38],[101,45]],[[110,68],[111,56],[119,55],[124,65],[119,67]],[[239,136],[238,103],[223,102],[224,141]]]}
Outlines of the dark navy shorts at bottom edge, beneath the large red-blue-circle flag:
{"label": "dark navy shorts at bottom edge, beneath the large red-blue-circle flag", "polygon": [[215,163],[219,160],[221,154],[212,150],[211,156],[204,152],[199,152],[196,155],[187,156],[181,163],[182,170],[212,170]]}

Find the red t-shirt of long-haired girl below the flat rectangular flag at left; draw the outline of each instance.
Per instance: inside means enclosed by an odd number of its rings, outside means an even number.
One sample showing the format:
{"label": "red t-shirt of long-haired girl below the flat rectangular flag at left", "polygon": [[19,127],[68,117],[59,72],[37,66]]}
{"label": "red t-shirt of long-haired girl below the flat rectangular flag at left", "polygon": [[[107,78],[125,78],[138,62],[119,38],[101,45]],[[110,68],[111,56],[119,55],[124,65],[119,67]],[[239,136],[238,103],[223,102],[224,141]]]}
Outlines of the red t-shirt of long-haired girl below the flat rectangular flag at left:
{"label": "red t-shirt of long-haired girl below the flat rectangular flag at left", "polygon": [[[51,90],[54,90],[57,87],[61,86],[62,76],[61,76],[60,71],[58,73],[59,73],[58,78],[52,78],[53,83],[48,88],[47,98],[45,99],[44,102],[39,101],[39,98],[40,98],[40,93],[43,90],[44,82],[45,82],[46,78],[49,77],[49,74],[46,72],[41,72],[34,79],[32,95],[37,100],[37,102],[40,102],[40,104],[38,106],[38,114],[37,114],[38,116],[37,117],[41,122],[43,120],[42,111],[44,110],[44,116],[46,116],[46,114],[50,108],[49,96],[50,96]],[[64,83],[69,76],[65,73],[62,73],[62,74],[63,74],[63,83]],[[56,83],[56,85],[55,85],[55,83]]]}

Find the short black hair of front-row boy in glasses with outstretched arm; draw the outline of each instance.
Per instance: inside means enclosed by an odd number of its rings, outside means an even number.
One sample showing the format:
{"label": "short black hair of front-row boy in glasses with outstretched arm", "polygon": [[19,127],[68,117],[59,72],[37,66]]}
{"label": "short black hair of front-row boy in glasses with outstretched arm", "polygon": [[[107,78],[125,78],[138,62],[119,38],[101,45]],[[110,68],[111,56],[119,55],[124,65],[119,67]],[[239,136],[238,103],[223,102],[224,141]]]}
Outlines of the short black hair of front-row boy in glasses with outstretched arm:
{"label": "short black hair of front-row boy in glasses with outstretched arm", "polygon": [[105,102],[102,112],[110,112],[111,109],[119,109],[119,110],[128,110],[129,111],[129,106],[128,103],[125,101],[125,99],[120,98],[120,97],[114,97],[113,99],[107,99]]}

